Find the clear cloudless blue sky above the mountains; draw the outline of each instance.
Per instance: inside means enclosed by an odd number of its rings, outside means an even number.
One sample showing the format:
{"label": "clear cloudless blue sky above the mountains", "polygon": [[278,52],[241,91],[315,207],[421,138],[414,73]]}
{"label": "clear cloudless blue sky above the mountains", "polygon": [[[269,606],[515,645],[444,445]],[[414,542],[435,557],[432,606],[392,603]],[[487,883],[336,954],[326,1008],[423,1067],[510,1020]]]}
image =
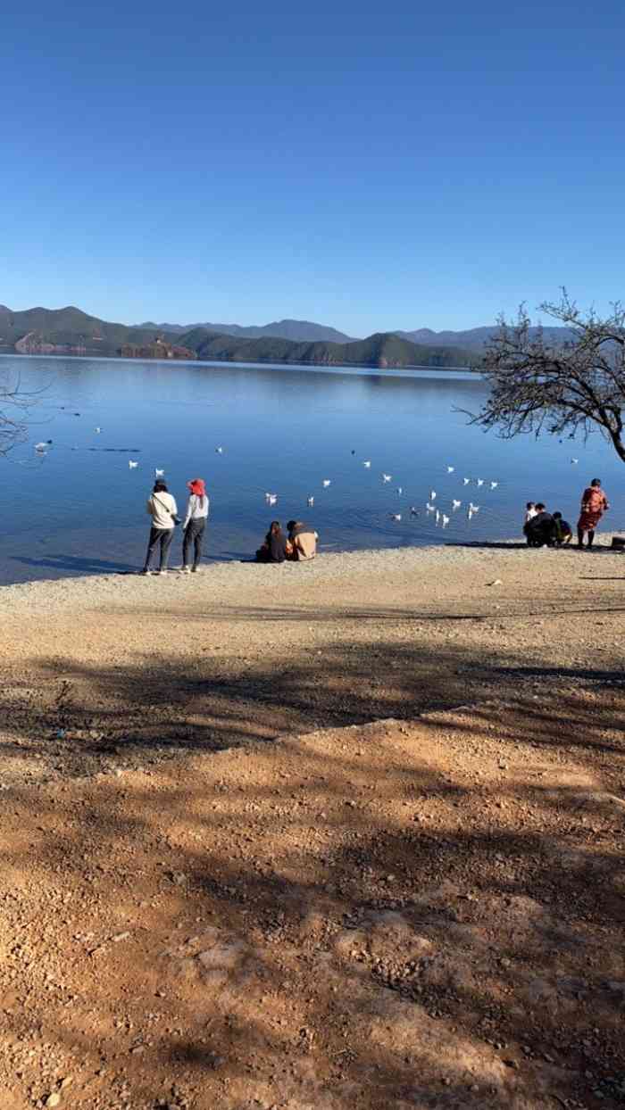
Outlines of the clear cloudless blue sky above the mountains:
{"label": "clear cloudless blue sky above the mountains", "polygon": [[467,327],[624,294],[622,0],[1,21],[0,303]]}

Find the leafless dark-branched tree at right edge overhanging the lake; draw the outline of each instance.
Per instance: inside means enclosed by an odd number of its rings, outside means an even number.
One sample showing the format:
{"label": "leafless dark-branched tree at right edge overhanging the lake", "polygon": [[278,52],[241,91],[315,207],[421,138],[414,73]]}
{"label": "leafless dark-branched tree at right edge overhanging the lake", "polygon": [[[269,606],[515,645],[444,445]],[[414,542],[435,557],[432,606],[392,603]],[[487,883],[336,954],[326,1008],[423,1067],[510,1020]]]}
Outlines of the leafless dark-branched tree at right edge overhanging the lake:
{"label": "leafless dark-branched tree at right edge overhanging the lake", "polygon": [[587,437],[598,428],[625,462],[625,309],[615,303],[605,317],[582,312],[563,290],[560,303],[540,311],[564,325],[564,342],[546,342],[524,305],[514,323],[502,316],[484,355],[491,393],[471,423],[506,440],[542,432]]}

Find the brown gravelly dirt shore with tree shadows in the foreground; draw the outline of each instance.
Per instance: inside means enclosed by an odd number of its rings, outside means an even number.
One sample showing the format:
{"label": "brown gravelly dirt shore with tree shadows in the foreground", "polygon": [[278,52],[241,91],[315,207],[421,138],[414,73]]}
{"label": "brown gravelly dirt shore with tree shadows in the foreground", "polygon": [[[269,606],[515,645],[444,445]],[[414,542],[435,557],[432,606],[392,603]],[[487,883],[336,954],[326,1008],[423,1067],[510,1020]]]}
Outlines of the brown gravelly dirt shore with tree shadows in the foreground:
{"label": "brown gravelly dirt shore with tree shadows in the foreground", "polygon": [[625,556],[382,555],[1,593],[2,1106],[625,1106]]}

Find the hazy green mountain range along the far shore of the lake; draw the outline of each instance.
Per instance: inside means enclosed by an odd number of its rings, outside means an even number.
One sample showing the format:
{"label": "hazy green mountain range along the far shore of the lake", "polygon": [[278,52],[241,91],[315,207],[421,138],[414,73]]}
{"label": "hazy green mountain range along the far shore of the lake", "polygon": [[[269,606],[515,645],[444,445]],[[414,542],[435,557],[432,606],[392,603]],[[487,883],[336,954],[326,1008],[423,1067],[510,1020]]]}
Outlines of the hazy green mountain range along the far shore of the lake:
{"label": "hazy green mountain range along the far shore of the lake", "polygon": [[[360,366],[466,366],[480,363],[484,344],[496,325],[468,331],[376,332],[354,340],[334,327],[306,320],[280,320],[264,326],[239,324],[110,323],[80,309],[28,309],[13,312],[0,305],[0,350],[23,354],[90,354],[114,357],[132,353],[235,362],[310,363]],[[554,343],[568,335],[564,327],[545,327]]]}

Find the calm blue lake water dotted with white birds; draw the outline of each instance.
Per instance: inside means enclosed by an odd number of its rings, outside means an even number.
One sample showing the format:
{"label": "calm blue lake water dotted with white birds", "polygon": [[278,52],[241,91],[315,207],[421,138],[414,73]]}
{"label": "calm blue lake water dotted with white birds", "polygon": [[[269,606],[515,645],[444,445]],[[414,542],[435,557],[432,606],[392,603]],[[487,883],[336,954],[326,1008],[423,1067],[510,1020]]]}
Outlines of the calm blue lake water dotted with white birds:
{"label": "calm blue lake water dotted with white birds", "polygon": [[[3,584],[140,567],[155,467],[181,509],[187,480],[205,478],[206,554],[219,559],[253,555],[272,517],[310,521],[322,551],[507,538],[518,534],[528,498],[574,525],[594,476],[613,505],[606,527],[625,525],[623,464],[598,435],[586,446],[506,443],[468,427],[455,410],[476,411],[486,389],[468,373],[0,357],[0,375],[17,373],[23,387],[43,392],[30,442],[0,461]],[[52,445],[38,456],[34,444],[44,440]],[[464,486],[465,476],[484,485]],[[445,528],[425,511],[431,490],[450,516]],[[275,508],[265,492],[279,495]],[[453,498],[462,502],[455,512]],[[480,505],[471,521],[470,500]],[[179,556],[174,541],[172,565]]]}

